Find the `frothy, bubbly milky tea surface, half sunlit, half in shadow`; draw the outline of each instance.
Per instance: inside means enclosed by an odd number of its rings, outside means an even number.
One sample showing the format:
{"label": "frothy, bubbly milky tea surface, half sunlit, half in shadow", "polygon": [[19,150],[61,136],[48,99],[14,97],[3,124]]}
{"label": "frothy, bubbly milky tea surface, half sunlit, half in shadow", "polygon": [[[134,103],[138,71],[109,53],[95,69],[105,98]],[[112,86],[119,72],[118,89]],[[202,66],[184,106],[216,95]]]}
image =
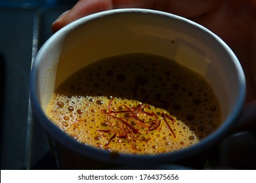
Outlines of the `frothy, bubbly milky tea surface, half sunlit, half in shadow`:
{"label": "frothy, bubbly milky tea surface, half sunlit, half in shadow", "polygon": [[96,61],[54,92],[49,119],[78,142],[123,154],[160,154],[198,143],[221,124],[202,76],[151,54]]}

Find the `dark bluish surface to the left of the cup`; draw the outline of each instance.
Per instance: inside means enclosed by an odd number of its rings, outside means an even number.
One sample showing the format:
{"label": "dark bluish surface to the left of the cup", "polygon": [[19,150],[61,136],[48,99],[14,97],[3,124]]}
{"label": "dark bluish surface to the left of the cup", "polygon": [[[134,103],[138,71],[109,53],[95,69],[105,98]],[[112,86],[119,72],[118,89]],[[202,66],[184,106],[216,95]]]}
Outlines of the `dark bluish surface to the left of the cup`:
{"label": "dark bluish surface to the left of the cup", "polygon": [[70,7],[0,1],[1,169],[56,169],[47,135],[32,119],[28,80],[51,24]]}

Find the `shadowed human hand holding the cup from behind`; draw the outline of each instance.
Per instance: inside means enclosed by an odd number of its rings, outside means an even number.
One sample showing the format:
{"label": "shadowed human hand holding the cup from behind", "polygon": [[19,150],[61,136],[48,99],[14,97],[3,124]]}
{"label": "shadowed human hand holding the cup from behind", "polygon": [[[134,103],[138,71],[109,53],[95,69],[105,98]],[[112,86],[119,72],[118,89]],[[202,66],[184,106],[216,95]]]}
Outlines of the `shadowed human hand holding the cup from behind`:
{"label": "shadowed human hand holding the cup from behind", "polygon": [[240,121],[256,122],[255,0],[80,0],[53,23],[53,32],[74,20],[114,8],[150,8],[183,16],[207,27],[234,51],[244,69],[247,95]]}

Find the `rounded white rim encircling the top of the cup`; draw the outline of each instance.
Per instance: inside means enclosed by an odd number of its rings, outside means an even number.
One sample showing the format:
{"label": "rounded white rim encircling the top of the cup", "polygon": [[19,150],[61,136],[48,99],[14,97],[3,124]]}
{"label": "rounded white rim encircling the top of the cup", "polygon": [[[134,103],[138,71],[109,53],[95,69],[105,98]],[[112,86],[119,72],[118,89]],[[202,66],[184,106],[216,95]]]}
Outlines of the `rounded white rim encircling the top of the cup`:
{"label": "rounded white rim encircling the top of the cup", "polygon": [[[40,63],[40,58],[44,54],[45,48],[49,44],[51,44],[52,41],[55,39],[59,39],[62,37],[63,34],[72,31],[75,27],[81,24],[86,24],[87,22],[94,20],[95,18],[100,18],[102,16],[111,16],[113,14],[119,14],[119,13],[143,13],[143,14],[157,14],[158,16],[167,16],[171,19],[176,19],[179,21],[184,22],[184,24],[188,24],[190,26],[198,27],[201,31],[203,31],[205,34],[208,34],[209,36],[213,37],[215,41],[219,42],[223,46],[223,49],[226,50],[226,53],[230,56],[230,61],[234,64],[236,67],[236,71],[238,73],[238,82],[239,82],[239,96],[236,99],[236,106],[230,112],[229,117],[224,120],[223,124],[217,129],[214,133],[211,135],[205,137],[202,141],[200,141],[198,144],[194,144],[193,146],[190,146],[188,148],[183,148],[181,150],[177,150],[175,152],[167,152],[164,154],[156,154],[155,156],[152,155],[133,155],[133,154],[119,154],[117,159],[113,159],[113,152],[108,152],[106,150],[100,150],[98,148],[95,148],[93,146],[87,146],[85,144],[81,144],[80,142],[75,141],[72,137],[69,135],[66,135],[64,131],[62,131],[59,127],[53,124],[47,116],[44,114],[43,109],[40,106],[39,97],[37,97],[37,72],[39,71],[38,64]],[[191,20],[188,20],[186,18],[183,18],[181,16],[177,16],[175,14],[171,14],[168,12],[161,12],[159,10],[148,10],[148,9],[141,9],[141,8],[122,8],[122,9],[116,9],[116,10],[106,10],[103,12],[97,12],[95,14],[91,14],[89,16],[85,16],[83,18],[80,18],[79,20],[75,20],[71,24],[66,25],[54,35],[52,35],[44,44],[41,46],[39,51],[37,52],[35,59],[33,61],[32,65],[32,71],[30,73],[30,99],[32,103],[32,110],[35,116],[38,116],[37,119],[39,119],[39,123],[43,126],[45,131],[49,133],[54,139],[56,139],[58,142],[62,143],[64,146],[68,146],[68,148],[74,150],[75,152],[78,152],[79,154],[83,154],[85,156],[98,159],[100,161],[106,161],[109,163],[127,163],[127,164],[133,164],[133,163],[142,163],[142,164],[149,164],[149,163],[163,163],[167,161],[179,161],[184,158],[188,158],[190,156],[194,156],[195,154],[198,154],[199,152],[203,152],[203,150],[206,150],[209,148],[209,146],[212,146],[215,144],[215,142],[219,141],[224,135],[227,133],[227,131],[230,129],[230,127],[234,124],[236,118],[238,118],[238,115],[240,114],[240,111],[242,110],[242,107],[245,102],[245,76],[244,71],[242,69],[242,66],[240,65],[240,62],[238,61],[238,58],[236,58],[235,54],[232,52],[232,50],[228,47],[228,45],[215,33],[209,31],[209,29],[203,27],[200,24],[197,24],[196,22],[192,22]]]}

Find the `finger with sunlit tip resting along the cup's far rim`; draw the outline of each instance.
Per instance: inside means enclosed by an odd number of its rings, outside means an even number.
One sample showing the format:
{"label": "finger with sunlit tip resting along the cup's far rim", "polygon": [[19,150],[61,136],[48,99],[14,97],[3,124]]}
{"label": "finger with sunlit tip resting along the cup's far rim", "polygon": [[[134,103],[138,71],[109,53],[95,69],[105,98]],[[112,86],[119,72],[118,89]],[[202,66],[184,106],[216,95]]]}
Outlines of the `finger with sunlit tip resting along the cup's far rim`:
{"label": "finger with sunlit tip resting along the cup's far rim", "polygon": [[88,14],[114,8],[152,8],[184,17],[194,17],[217,7],[221,1],[211,0],[80,0],[53,23],[53,32]]}

